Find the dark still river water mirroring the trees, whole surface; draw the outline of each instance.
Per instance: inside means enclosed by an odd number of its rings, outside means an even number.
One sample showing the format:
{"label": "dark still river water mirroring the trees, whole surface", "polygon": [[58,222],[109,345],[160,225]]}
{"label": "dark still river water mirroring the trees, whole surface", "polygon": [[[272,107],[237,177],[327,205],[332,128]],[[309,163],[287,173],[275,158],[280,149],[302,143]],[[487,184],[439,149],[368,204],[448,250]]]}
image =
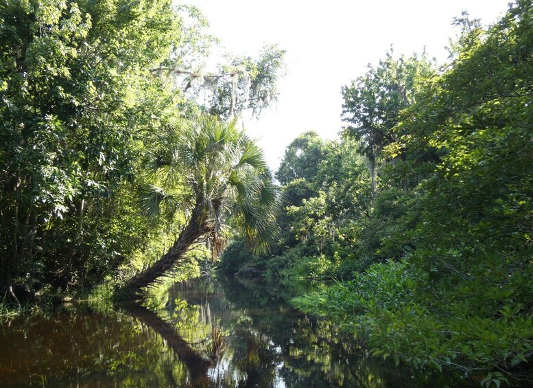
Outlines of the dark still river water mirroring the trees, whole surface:
{"label": "dark still river water mirroring the trees, whole surface", "polygon": [[65,306],[2,321],[0,386],[456,386],[368,358],[335,323],[289,305],[317,287],[202,278],[171,286],[158,309]]}

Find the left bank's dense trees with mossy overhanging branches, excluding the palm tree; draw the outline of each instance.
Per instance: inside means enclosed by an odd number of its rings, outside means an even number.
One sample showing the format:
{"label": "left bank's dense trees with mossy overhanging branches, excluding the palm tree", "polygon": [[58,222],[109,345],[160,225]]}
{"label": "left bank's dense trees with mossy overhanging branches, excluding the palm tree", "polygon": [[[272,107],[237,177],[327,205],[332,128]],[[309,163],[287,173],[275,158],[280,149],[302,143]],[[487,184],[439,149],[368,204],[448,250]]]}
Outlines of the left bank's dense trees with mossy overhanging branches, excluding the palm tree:
{"label": "left bank's dense trees with mossy overhanging branches, excluding the palm tree", "polygon": [[183,218],[139,202],[147,161],[202,111],[268,106],[283,67],[270,46],[207,74],[207,26],[168,0],[0,1],[2,296],[127,279],[174,240]]}

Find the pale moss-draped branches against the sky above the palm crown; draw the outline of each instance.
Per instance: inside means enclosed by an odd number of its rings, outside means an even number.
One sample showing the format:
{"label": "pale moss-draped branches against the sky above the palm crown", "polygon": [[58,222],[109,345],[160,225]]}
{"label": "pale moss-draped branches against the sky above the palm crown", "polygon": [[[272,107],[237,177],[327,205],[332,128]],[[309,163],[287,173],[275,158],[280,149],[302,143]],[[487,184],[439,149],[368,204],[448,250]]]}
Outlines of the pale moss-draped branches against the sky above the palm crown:
{"label": "pale moss-draped branches against the sky above the palm crown", "polygon": [[[202,111],[222,119],[233,119],[250,109],[259,117],[278,98],[277,81],[285,70],[285,50],[265,45],[258,58],[224,54],[224,62],[210,70],[206,62],[217,39],[205,34],[209,23],[198,8],[182,6],[189,23],[182,27],[185,44],[152,73],[172,80]],[[211,59],[211,62],[213,60]]]}

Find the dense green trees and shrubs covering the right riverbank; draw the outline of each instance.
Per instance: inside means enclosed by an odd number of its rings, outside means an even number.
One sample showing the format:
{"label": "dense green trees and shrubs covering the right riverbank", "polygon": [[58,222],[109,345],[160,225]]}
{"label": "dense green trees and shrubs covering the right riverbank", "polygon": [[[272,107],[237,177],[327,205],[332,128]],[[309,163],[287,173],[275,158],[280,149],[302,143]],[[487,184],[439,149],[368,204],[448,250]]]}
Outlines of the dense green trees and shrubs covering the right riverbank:
{"label": "dense green trees and shrubs covering the right riverbank", "polygon": [[283,233],[265,274],[345,279],[298,308],[397,363],[485,385],[528,368],[532,15],[519,0],[486,28],[456,19],[441,69],[387,54],[342,89],[341,141],[310,148],[320,139],[305,134],[287,148]]}

